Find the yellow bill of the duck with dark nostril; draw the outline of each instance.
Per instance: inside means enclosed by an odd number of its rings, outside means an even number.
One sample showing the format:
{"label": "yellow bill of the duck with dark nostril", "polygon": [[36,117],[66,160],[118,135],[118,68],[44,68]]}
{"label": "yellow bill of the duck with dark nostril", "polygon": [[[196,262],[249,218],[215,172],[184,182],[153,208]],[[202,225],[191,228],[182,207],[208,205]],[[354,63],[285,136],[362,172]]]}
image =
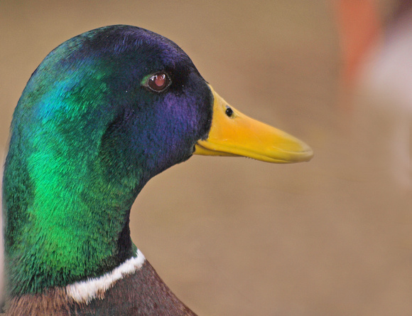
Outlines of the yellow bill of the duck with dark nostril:
{"label": "yellow bill of the duck with dark nostril", "polygon": [[313,157],[313,150],[304,142],[242,114],[210,89],[215,98],[212,127],[207,139],[197,142],[195,154],[273,163],[307,162]]}

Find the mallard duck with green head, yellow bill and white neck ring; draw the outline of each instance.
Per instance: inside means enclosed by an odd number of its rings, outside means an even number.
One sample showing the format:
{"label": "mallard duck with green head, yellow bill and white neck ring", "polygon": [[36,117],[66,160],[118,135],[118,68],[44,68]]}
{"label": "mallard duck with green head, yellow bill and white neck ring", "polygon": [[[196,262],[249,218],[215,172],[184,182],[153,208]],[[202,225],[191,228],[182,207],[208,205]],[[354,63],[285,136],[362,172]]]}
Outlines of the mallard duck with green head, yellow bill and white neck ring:
{"label": "mallard duck with green head, yellow bill and white neck ring", "polygon": [[194,315],[129,233],[146,182],[193,154],[308,161],[305,143],[225,102],[175,43],[106,26],[55,48],[11,122],[9,315]]}

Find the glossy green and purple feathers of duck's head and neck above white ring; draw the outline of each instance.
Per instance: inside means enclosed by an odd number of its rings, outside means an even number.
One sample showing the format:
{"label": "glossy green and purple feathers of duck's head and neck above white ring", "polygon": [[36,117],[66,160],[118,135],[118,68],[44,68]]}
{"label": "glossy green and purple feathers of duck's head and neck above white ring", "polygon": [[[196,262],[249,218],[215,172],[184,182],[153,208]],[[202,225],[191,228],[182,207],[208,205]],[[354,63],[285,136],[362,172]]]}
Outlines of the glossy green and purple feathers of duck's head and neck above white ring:
{"label": "glossy green and purple feathers of duck's head and neck above white ring", "polygon": [[[156,93],[142,84],[166,72]],[[135,251],[129,211],[146,181],[207,136],[212,94],[162,36],[99,28],[55,48],[18,101],[4,171],[13,295],[111,270]]]}

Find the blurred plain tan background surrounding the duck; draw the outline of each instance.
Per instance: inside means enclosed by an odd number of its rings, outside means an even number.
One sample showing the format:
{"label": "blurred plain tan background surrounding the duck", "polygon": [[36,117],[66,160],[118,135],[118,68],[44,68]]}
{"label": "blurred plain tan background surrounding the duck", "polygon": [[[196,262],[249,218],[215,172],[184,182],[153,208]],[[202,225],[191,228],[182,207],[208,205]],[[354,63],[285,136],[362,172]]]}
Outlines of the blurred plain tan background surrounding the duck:
{"label": "blurred plain tan background surrounding the duck", "polygon": [[[378,5],[388,23],[393,1]],[[0,157],[55,46],[109,24],[156,31],[234,107],[315,151],[292,165],[193,157],[148,183],[132,236],[176,295],[200,315],[412,315],[411,135],[401,149],[391,136],[412,103],[392,115],[345,93],[336,16],[333,1],[1,0]]]}

